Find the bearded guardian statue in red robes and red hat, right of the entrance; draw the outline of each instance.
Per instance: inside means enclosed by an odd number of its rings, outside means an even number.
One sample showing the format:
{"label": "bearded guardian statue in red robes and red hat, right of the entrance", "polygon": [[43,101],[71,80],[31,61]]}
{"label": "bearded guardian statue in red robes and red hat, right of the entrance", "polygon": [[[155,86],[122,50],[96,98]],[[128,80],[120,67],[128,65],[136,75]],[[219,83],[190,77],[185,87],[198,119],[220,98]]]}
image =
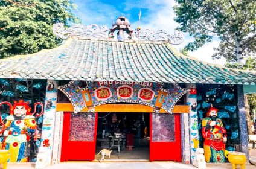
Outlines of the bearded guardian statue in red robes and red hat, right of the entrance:
{"label": "bearded guardian statue in red robes and red hat, right of the entrance", "polygon": [[202,136],[205,139],[203,148],[205,150],[206,162],[224,162],[226,130],[222,120],[217,118],[218,109],[211,107],[206,118],[202,120]]}

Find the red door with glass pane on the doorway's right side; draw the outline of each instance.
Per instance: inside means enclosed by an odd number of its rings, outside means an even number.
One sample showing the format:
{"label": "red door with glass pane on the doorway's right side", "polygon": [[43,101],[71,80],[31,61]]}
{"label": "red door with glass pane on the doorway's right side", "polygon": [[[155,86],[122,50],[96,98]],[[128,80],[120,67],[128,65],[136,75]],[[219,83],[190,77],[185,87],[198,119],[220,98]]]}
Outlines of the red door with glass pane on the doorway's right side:
{"label": "red door with glass pane on the doorway's right side", "polygon": [[149,160],[181,162],[181,129],[179,113],[150,113]]}

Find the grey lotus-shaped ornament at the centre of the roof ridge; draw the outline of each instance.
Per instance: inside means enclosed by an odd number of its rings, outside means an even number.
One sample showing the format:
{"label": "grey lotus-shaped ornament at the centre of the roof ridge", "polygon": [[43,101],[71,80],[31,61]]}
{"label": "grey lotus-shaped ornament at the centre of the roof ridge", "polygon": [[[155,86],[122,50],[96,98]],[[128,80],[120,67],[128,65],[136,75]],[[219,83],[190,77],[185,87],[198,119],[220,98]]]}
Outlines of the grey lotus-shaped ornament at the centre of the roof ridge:
{"label": "grey lotus-shaped ornament at the centre of the roof ridge", "polygon": [[118,30],[117,33],[117,39],[120,42],[124,41],[124,31],[126,31],[126,33],[129,35],[129,39],[133,39],[133,30],[130,27],[130,22],[127,18],[125,18],[124,16],[120,16],[117,18],[117,21],[113,21],[112,22],[112,28],[110,28],[109,30],[109,37],[113,38],[114,35],[114,31]]}

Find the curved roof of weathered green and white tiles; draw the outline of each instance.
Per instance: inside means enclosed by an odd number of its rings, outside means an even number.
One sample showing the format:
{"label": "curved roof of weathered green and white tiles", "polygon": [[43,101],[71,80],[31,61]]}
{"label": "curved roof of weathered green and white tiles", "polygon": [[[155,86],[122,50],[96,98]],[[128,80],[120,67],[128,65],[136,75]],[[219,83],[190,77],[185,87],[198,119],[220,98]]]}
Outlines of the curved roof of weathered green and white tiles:
{"label": "curved roof of weathered green and white tiles", "polygon": [[256,73],[205,63],[160,42],[69,39],[55,49],[0,60],[0,78],[256,83]]}

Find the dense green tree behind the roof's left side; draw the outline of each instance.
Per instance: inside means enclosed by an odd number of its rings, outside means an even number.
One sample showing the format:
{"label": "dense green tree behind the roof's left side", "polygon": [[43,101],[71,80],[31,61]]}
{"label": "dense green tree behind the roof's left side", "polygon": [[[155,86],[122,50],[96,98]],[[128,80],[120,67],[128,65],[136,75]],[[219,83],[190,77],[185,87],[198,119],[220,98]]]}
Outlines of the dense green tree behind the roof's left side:
{"label": "dense green tree behind the roof's left side", "polygon": [[80,22],[69,0],[1,0],[0,59],[50,49],[62,40],[53,34],[53,24]]}

